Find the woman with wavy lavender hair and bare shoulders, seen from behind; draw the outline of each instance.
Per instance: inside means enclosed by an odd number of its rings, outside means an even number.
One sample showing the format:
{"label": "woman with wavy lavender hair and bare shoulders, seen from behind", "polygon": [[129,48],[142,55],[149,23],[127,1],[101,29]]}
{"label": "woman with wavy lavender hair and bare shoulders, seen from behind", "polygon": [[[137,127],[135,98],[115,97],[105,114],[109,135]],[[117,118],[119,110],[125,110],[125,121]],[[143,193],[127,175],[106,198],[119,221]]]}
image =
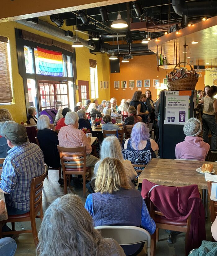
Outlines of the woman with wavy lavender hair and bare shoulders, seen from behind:
{"label": "woman with wavy lavender hair and bare shoulders, seen from behind", "polygon": [[[158,146],[149,137],[147,125],[136,123],[132,129],[131,138],[127,139],[124,144],[123,158],[130,160],[133,165],[147,165],[152,158],[156,158],[154,151],[158,150]],[[136,170],[143,169],[144,167],[136,167]]]}

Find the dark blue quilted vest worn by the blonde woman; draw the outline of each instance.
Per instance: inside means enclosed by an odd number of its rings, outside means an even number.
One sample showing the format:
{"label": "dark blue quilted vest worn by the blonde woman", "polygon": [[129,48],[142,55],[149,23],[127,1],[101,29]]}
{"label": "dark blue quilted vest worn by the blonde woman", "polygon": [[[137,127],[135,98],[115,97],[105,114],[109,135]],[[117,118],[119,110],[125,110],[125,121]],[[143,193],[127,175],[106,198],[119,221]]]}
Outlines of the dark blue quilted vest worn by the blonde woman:
{"label": "dark blue quilted vest worn by the blonde woman", "polygon": [[95,226],[141,226],[143,198],[136,189],[92,193]]}

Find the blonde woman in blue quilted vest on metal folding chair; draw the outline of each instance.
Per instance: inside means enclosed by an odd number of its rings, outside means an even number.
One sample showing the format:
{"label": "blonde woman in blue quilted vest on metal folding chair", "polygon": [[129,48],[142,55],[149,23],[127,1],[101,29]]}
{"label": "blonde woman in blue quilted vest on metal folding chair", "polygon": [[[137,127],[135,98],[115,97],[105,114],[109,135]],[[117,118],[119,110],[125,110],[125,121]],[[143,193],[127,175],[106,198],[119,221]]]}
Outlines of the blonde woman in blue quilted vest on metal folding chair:
{"label": "blonde woman in blue quilted vest on metal folding chair", "polygon": [[[93,217],[95,226],[137,226],[151,235],[156,229],[141,193],[129,187],[122,162],[113,157],[101,161],[96,174],[95,193],[88,195],[85,208]],[[144,243],[127,245],[123,249],[130,255],[141,251],[143,246]]]}

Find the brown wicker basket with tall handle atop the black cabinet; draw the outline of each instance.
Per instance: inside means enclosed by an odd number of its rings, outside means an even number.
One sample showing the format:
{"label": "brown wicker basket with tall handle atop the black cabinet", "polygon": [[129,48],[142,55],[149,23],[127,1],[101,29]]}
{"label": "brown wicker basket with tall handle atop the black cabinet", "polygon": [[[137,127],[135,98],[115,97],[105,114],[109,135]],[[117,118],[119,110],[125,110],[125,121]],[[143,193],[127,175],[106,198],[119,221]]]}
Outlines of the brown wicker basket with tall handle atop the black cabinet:
{"label": "brown wicker basket with tall handle atop the black cabinet", "polygon": [[181,63],[186,63],[191,67],[190,76],[181,78],[181,79],[177,79],[174,81],[167,81],[169,91],[182,91],[182,90],[194,90],[195,89],[198,78],[194,77],[195,71],[189,63],[179,62],[178,64],[175,65],[173,72],[175,72],[175,68],[177,66],[179,66],[179,64],[181,64]]}

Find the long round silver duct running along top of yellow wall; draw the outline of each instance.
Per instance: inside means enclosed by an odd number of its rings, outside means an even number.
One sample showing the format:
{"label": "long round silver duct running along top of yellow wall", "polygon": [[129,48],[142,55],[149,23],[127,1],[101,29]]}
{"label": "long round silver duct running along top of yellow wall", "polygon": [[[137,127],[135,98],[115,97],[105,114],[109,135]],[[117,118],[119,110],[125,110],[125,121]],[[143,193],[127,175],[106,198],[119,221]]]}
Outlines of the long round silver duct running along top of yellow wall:
{"label": "long round silver duct running along top of yellow wall", "polygon": [[[65,41],[74,43],[76,40],[76,37],[70,37],[70,36],[66,36],[66,31],[60,28],[57,28],[56,26],[51,25],[50,23],[47,23],[45,21],[42,20],[38,20],[38,23],[32,23],[29,22],[27,20],[19,20],[16,21],[17,23],[23,24],[25,26],[31,27],[35,30],[44,32],[46,34],[49,35],[53,35],[57,38],[63,39]],[[91,50],[95,49],[95,44],[93,43],[89,43],[85,40],[83,40],[82,38],[78,38],[79,41],[83,44],[84,47],[89,48]]]}

